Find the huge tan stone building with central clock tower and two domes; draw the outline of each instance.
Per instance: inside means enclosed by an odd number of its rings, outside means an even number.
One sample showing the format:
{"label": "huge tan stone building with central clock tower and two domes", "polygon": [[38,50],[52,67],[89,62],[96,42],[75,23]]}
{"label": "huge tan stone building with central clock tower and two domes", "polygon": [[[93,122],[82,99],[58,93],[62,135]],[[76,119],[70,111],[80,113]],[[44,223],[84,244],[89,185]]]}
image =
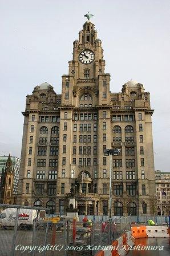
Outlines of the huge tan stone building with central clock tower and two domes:
{"label": "huge tan stone building with central clock tower and two domes", "polygon": [[112,157],[112,215],[155,211],[149,92],[131,80],[110,92],[102,41],[88,19],[73,43],[62,94],[44,82],[27,95],[17,202],[65,214],[74,194],[79,214],[108,215]]}

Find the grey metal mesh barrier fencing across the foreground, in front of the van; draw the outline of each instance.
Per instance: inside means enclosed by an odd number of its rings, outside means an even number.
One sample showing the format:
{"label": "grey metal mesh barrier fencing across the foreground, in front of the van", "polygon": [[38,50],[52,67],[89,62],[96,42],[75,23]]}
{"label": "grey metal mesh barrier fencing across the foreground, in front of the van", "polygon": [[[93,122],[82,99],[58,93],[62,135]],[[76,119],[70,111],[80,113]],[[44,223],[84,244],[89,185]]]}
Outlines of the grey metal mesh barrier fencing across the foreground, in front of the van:
{"label": "grey metal mesh barrier fencing across the foreground, in front of the van", "polygon": [[91,222],[80,221],[74,226],[73,221],[66,219],[56,223],[48,219],[45,221],[42,212],[46,211],[50,216],[48,208],[0,204],[0,210],[1,256],[94,256],[101,246],[110,245],[112,241],[131,230],[133,222],[144,224],[148,219],[155,223],[165,222],[165,216],[157,215],[122,218],[112,216],[111,222],[108,216],[87,216]]}

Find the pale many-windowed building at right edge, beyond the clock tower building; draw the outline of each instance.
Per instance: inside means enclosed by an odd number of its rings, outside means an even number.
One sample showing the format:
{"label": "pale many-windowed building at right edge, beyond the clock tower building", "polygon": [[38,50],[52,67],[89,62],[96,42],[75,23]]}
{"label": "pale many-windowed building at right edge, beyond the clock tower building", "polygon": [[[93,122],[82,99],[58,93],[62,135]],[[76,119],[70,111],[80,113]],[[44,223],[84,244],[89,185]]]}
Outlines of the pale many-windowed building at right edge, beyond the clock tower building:
{"label": "pale many-windowed building at right edge, beyond the clock tower building", "polygon": [[170,214],[170,172],[155,171],[157,214]]}

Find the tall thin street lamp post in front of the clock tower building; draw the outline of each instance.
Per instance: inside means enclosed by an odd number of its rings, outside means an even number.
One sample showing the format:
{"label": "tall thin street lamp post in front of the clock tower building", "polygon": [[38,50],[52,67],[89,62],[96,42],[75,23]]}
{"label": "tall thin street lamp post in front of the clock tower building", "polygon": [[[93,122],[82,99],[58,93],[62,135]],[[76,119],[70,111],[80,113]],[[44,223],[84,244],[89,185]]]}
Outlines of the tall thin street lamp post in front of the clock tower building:
{"label": "tall thin street lamp post in front of the clock tower building", "polygon": [[110,198],[110,204],[109,204],[109,220],[111,221],[111,207],[112,207],[112,155],[119,156],[120,149],[114,148],[114,149],[106,149],[104,152],[105,156],[110,155],[110,191],[109,191],[109,198]]}

